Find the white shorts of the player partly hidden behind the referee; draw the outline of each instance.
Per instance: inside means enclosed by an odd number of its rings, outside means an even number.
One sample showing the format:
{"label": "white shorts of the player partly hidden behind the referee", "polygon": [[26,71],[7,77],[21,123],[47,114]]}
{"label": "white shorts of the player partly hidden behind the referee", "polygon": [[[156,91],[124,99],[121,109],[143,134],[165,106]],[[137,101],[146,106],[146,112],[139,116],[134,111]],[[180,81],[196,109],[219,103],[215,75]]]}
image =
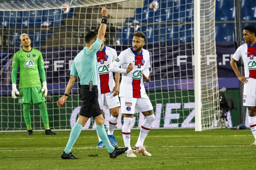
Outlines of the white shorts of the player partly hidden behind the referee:
{"label": "white shorts of the player partly hidden behind the referee", "polygon": [[98,102],[101,109],[103,109],[103,106],[105,106],[106,109],[120,107],[118,95],[113,96],[113,93],[111,92],[105,94],[98,94]]}

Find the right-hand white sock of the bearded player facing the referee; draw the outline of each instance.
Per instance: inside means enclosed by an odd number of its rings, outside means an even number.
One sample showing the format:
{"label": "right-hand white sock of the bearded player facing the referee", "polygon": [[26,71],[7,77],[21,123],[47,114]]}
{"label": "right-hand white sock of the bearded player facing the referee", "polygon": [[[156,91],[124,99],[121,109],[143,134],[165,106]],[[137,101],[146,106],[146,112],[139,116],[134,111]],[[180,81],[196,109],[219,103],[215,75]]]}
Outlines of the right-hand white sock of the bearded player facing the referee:
{"label": "right-hand white sock of the bearded player facing the referee", "polygon": [[151,125],[152,125],[154,120],[155,120],[155,115],[154,114],[149,115],[149,116],[145,116],[145,120],[143,121],[142,126],[140,128],[140,135],[139,135],[138,141],[135,145],[136,147],[142,147],[143,146],[144,140],[145,140],[146,136],[148,135],[149,130],[150,130]]}

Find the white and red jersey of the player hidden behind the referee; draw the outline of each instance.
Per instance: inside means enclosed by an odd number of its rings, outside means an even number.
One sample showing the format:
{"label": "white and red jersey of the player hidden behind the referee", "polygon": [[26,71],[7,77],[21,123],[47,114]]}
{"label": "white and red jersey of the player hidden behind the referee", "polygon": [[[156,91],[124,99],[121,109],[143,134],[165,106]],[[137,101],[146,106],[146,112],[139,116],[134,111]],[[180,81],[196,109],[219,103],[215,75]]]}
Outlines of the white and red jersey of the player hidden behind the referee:
{"label": "white and red jersey of the player hidden behind the referee", "polygon": [[109,67],[113,60],[116,60],[116,50],[105,46],[102,51],[96,53],[96,63],[98,70],[98,92],[105,94],[112,92],[116,85],[113,79],[113,73],[109,71]]}

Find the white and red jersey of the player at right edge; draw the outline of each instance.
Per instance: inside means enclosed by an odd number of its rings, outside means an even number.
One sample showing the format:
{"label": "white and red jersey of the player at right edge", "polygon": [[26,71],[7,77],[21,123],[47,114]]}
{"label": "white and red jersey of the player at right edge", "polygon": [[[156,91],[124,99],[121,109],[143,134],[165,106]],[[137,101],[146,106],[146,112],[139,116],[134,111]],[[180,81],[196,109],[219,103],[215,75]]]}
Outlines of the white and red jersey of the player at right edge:
{"label": "white and red jersey of the player at right edge", "polygon": [[245,77],[256,79],[256,43],[253,46],[245,43],[238,47],[233,58],[238,61],[240,57],[244,61]]}

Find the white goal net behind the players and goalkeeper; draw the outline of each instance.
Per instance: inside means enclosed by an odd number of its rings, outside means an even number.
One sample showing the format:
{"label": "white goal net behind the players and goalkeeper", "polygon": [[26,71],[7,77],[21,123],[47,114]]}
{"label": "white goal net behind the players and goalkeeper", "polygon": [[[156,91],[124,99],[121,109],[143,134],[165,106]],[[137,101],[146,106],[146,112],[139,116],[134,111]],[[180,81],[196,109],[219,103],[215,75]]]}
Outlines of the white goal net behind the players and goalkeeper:
{"label": "white goal net behind the players and goalkeeper", "polygon": [[[218,126],[218,79],[214,32],[214,0],[201,0],[201,127]],[[19,36],[27,33],[31,46],[44,58],[50,128],[71,129],[80,110],[79,81],[61,108],[56,102],[64,94],[71,62],[84,47],[84,35],[100,26],[101,6],[109,11],[105,45],[121,51],[131,47],[133,33],[146,35],[144,49],[150,52],[151,82],[144,84],[153,104],[153,128],[194,128],[194,15],[193,0],[18,0],[0,3],[0,130],[26,130],[22,105],[11,97],[11,63],[21,49]],[[29,76],[29,75],[28,75]],[[17,76],[19,77],[19,75]],[[17,81],[18,85],[18,81]],[[110,111],[105,112],[108,127]],[[122,115],[117,128],[122,128]],[[42,130],[37,104],[31,104],[32,128]],[[134,114],[132,127],[144,121]],[[95,128],[93,119],[84,129]]]}

